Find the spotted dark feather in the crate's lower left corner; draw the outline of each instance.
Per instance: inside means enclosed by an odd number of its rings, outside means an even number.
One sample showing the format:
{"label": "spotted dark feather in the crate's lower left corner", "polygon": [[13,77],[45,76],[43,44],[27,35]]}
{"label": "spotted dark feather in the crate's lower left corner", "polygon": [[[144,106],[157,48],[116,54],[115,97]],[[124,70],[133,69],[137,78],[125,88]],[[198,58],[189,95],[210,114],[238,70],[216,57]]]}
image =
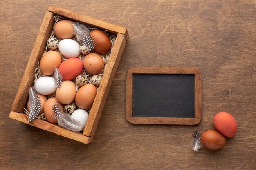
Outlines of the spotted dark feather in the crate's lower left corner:
{"label": "spotted dark feather in the crate's lower left corner", "polygon": [[29,108],[30,112],[28,121],[32,121],[36,116],[38,116],[41,110],[41,100],[34,87],[29,88]]}

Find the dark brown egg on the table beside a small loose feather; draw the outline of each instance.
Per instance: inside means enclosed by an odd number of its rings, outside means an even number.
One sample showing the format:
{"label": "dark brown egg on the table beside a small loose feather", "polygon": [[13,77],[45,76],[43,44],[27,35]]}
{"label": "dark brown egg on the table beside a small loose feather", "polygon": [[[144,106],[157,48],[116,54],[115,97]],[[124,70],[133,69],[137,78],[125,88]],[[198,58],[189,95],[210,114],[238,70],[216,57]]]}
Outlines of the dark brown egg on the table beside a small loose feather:
{"label": "dark brown egg on the table beside a small loose feather", "polygon": [[201,136],[202,145],[210,150],[218,150],[226,144],[226,139],[215,130],[207,130]]}

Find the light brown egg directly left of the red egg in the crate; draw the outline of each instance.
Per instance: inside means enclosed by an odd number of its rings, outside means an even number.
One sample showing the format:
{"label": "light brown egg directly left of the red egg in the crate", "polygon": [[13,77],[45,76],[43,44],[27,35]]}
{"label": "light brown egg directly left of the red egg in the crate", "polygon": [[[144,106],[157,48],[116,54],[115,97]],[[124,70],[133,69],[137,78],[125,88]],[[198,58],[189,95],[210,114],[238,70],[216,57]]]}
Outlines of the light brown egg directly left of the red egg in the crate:
{"label": "light brown egg directly left of the red egg in the crate", "polygon": [[57,51],[48,51],[40,60],[39,68],[43,75],[51,75],[54,68],[61,65],[61,55]]}

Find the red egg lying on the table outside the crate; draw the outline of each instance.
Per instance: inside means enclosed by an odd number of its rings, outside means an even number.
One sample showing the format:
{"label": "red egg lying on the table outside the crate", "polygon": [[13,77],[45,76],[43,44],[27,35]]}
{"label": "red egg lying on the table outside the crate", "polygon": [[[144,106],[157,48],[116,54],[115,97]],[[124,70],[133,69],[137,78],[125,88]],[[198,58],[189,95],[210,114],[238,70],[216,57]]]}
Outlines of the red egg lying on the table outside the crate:
{"label": "red egg lying on the table outside the crate", "polygon": [[213,119],[215,128],[226,137],[236,135],[236,120],[227,112],[217,113]]}

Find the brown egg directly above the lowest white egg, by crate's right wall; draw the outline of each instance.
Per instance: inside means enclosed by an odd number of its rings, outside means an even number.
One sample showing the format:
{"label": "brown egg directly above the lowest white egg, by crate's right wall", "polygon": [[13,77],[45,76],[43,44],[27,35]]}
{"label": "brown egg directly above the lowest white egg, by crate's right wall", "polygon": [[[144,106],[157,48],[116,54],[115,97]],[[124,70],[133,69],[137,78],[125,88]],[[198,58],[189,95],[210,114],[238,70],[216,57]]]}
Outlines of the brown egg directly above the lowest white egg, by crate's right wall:
{"label": "brown egg directly above the lowest white egg, by crate's right wall", "polygon": [[92,107],[97,89],[93,84],[85,84],[76,92],[76,105],[81,109]]}

